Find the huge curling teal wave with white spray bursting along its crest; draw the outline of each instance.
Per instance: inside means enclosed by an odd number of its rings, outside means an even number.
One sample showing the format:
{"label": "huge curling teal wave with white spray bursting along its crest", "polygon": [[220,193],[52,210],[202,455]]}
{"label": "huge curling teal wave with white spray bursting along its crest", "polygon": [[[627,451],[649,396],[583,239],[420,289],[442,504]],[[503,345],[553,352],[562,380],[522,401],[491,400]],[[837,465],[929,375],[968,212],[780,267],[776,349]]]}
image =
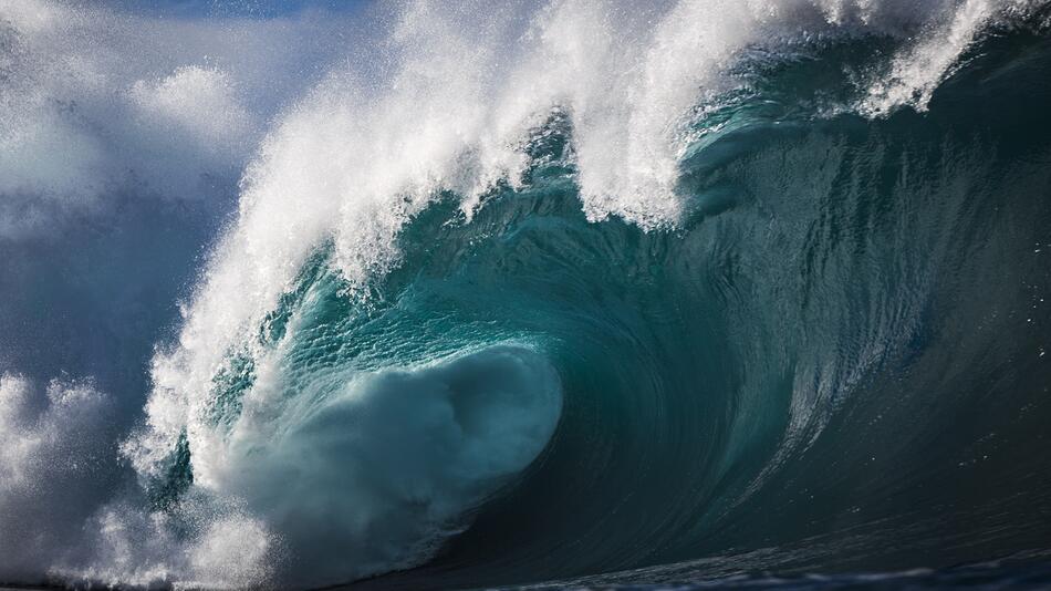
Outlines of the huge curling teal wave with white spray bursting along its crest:
{"label": "huge curling teal wave with white spray bursting along its crest", "polygon": [[262,141],[153,357],[134,490],[53,574],[611,584],[1047,550],[1045,3],[388,17],[368,72]]}

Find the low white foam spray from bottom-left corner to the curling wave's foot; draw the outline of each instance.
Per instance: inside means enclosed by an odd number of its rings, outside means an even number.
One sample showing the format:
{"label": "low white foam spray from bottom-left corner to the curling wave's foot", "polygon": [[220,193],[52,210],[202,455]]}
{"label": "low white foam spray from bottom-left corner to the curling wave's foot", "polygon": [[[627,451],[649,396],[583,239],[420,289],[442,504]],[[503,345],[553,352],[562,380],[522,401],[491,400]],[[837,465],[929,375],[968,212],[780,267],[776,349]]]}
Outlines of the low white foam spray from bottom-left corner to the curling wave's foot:
{"label": "low white foam spray from bottom-left corner to the curling wave's foot", "polygon": [[198,496],[173,518],[137,504],[96,505],[119,485],[114,405],[90,383],[40,386],[0,375],[0,577],[132,585],[175,577],[207,588],[266,581],[271,536],[237,507]]}

